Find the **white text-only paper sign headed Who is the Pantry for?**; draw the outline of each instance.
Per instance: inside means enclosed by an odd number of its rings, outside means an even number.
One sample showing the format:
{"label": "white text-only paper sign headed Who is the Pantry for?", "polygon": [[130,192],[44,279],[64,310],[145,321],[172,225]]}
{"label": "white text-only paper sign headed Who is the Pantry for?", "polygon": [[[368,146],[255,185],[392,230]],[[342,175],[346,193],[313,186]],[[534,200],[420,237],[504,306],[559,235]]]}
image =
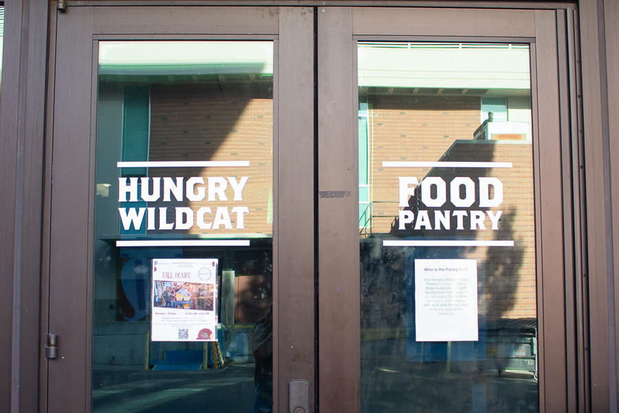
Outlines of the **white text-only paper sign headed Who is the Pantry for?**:
{"label": "white text-only paper sign headed Who is the Pantry for?", "polygon": [[477,341],[477,260],[415,260],[416,341]]}

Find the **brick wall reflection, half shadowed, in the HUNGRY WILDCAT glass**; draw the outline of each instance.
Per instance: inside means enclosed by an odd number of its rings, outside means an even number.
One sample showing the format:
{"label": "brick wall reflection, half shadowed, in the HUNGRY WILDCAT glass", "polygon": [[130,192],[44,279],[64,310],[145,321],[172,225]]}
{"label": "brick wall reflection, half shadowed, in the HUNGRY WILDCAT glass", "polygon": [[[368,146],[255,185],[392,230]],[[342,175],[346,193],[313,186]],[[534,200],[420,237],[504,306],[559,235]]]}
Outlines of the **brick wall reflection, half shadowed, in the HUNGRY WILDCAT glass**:
{"label": "brick wall reflection, half shadowed, in the HUNGRY WILDCAT glass", "polygon": [[[272,233],[273,174],[273,101],[268,85],[235,87],[220,85],[161,85],[151,88],[151,129],[149,160],[248,160],[249,167],[214,167],[206,169],[151,169],[150,176],[200,176],[204,178],[249,177],[243,188],[242,201],[233,200],[230,185],[227,202],[202,201],[153,202],[149,207],[168,207],[168,222],[173,222],[174,207],[210,207],[210,221],[217,207],[248,207],[244,214],[245,229],[204,230],[196,224],[186,231],[155,231],[155,233]],[[222,90],[223,88],[223,90]]]}

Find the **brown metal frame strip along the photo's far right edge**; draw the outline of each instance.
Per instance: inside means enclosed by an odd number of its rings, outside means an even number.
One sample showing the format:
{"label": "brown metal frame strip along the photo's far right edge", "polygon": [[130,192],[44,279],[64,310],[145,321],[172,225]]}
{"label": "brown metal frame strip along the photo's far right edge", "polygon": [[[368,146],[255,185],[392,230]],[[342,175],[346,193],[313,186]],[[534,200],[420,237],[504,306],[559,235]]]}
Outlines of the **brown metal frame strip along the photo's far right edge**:
{"label": "brown metal frame strip along the photo's far right edge", "polygon": [[[586,168],[581,187],[583,238],[587,262],[584,289],[588,412],[618,407],[619,382],[619,80],[616,76],[619,47],[619,8],[612,0],[580,0],[576,19],[576,44],[580,45],[578,70],[583,71],[578,105],[578,133],[582,139],[581,163]],[[581,63],[582,62],[582,63]],[[583,410],[584,411],[584,410]]]}

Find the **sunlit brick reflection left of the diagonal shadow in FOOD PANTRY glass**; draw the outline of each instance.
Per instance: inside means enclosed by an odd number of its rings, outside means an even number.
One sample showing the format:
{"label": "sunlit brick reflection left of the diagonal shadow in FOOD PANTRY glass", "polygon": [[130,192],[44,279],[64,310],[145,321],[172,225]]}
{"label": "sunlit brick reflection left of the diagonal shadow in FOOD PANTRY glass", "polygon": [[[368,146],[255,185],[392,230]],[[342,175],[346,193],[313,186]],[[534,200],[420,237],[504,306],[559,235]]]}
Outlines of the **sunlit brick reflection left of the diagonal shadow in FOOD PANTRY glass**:
{"label": "sunlit brick reflection left of the diagonal shadow in FOOD PANTRY glass", "polygon": [[[436,161],[454,140],[472,139],[479,126],[480,98],[372,96],[370,102],[372,231],[383,233],[389,231],[398,205],[401,171],[384,169],[382,161]],[[415,172],[422,178],[428,169]]]}

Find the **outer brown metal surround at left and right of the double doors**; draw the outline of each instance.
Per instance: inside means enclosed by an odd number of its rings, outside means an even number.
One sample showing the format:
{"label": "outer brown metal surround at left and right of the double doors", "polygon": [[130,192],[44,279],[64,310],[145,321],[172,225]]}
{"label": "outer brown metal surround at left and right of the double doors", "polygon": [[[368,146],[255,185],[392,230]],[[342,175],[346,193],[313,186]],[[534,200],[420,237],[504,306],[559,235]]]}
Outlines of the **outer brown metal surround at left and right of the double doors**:
{"label": "outer brown metal surround at left and right of the double doors", "polygon": [[[69,8],[75,10],[80,5],[97,6],[104,3],[100,0],[86,0],[73,3],[69,1]],[[124,8],[125,3],[145,4],[144,1],[107,1],[111,6]],[[156,4],[158,1],[149,1]],[[195,3],[187,1],[186,3]],[[231,2],[232,3],[232,2]],[[239,3],[239,2],[236,2]],[[320,4],[319,4],[320,3]],[[343,3],[343,2],[342,2]],[[379,1],[373,1],[377,5]],[[307,4],[322,6],[323,2],[311,1]],[[367,4],[367,3],[366,3]],[[402,6],[419,6],[418,1],[402,1]],[[610,153],[616,153],[618,128],[611,126],[617,122],[617,117],[608,118],[613,112],[609,109],[616,107],[619,93],[613,93],[618,89],[618,81],[614,78],[605,77],[609,68],[613,67],[617,56],[613,54],[613,45],[616,45],[616,34],[619,28],[609,22],[616,21],[617,6],[613,0],[580,0],[579,10],[572,2],[461,2],[461,1],[427,1],[426,6],[444,7],[447,4],[454,7],[465,5],[488,8],[539,8],[539,9],[563,9],[567,12],[567,49],[569,51],[569,65],[564,68],[569,74],[569,91],[576,89],[578,93],[569,94],[569,111],[572,113],[572,131],[579,138],[572,140],[572,155],[569,160],[580,159],[580,164],[573,162],[574,180],[574,243],[575,243],[575,297],[576,324],[578,326],[578,339],[576,340],[576,354],[578,357],[578,388],[587,387],[587,394],[578,392],[578,411],[590,411],[591,405],[583,405],[585,399],[593,399],[594,410],[607,411],[611,405],[611,399],[616,399],[617,388],[610,388],[609,377],[616,377],[617,366],[609,364],[618,339],[614,336],[616,330],[617,313],[611,313],[617,306],[613,303],[619,296],[617,288],[619,283],[613,282],[613,274],[616,278],[616,270],[613,265],[612,246],[613,231],[616,233],[617,222],[608,226],[612,220],[613,211],[618,211],[619,202],[616,194],[613,198],[607,197],[606,191],[611,183],[616,181],[619,168],[611,168],[616,165],[615,158]],[[600,10],[604,10],[604,13]],[[318,9],[320,12],[320,9]],[[49,14],[49,22],[48,20]],[[580,23],[578,23],[580,19]],[[25,23],[23,23],[25,22]],[[576,30],[572,30],[572,22],[575,22]],[[26,23],[30,23],[27,25]],[[561,21],[559,21],[561,27]],[[606,23],[606,25],[605,25]],[[29,27],[28,30],[23,30]],[[46,371],[47,361],[41,357],[41,343],[39,343],[39,321],[47,326],[47,276],[49,266],[49,251],[45,251],[43,262],[39,242],[43,246],[50,245],[50,165],[52,127],[51,121],[45,127],[45,117],[50,119],[53,115],[54,100],[54,67],[56,42],[56,2],[28,2],[16,0],[6,2],[6,25],[5,25],[5,53],[3,65],[3,93],[1,99],[2,111],[0,123],[3,138],[3,150],[1,151],[4,172],[2,180],[3,193],[6,201],[2,203],[1,219],[3,231],[3,260],[1,264],[3,277],[2,286],[4,291],[12,290],[14,299],[3,300],[3,311],[0,325],[2,326],[2,339],[0,348],[3,354],[12,354],[12,363],[1,369],[3,391],[1,392],[2,405],[12,405],[17,411],[34,411],[38,406],[37,391],[40,392],[41,410],[46,409]],[[48,36],[50,44],[50,65],[46,65]],[[561,45],[561,37],[558,36]],[[612,39],[611,39],[612,38]],[[572,43],[573,42],[573,43]],[[582,60],[578,51],[578,45],[582,45]],[[574,50],[574,48],[576,50]],[[563,50],[563,49],[561,49]],[[581,63],[581,61],[583,63]],[[561,66],[561,62],[559,65]],[[582,66],[583,81],[582,89],[579,78],[574,76]],[[47,104],[45,105],[45,73],[49,67],[49,81],[47,81]],[[62,65],[58,70],[63,70]],[[565,73],[565,72],[562,72]],[[609,73],[609,72],[608,72]],[[563,85],[561,80],[561,84]],[[608,83],[605,83],[608,82]],[[572,87],[572,83],[576,83]],[[561,87],[563,91],[563,86]],[[585,105],[583,105],[583,101]],[[561,97],[561,104],[565,102]],[[45,111],[47,107],[47,114]],[[576,107],[582,107],[578,112]],[[354,108],[353,108],[354,109]],[[563,111],[563,107],[562,107]],[[562,112],[563,128],[563,112]],[[610,126],[609,126],[610,125]],[[563,129],[562,129],[563,131]],[[583,136],[587,136],[586,142]],[[563,140],[565,142],[565,140]],[[50,145],[48,145],[50,144]],[[586,145],[585,145],[586,144]],[[47,150],[45,149],[47,145]],[[21,148],[21,149],[20,149]],[[583,149],[587,149],[586,157]],[[609,151],[608,149],[611,149]],[[5,150],[6,149],[6,150]],[[19,149],[19,150],[18,150]],[[563,151],[563,157],[567,153]],[[43,160],[43,162],[42,162]],[[584,167],[587,166],[585,189],[581,182],[585,182]],[[41,169],[46,166],[45,174]],[[581,180],[575,177],[580,173]],[[21,187],[23,185],[23,187]],[[21,189],[23,188],[23,189]],[[41,194],[41,188],[45,190],[45,197]],[[564,188],[567,188],[564,186]],[[567,190],[565,191],[567,193]],[[616,191],[615,191],[616,193]],[[585,220],[585,208],[581,204],[588,201],[589,216]],[[15,202],[13,202],[15,200]],[[38,207],[43,204],[43,207]],[[17,206],[23,207],[23,214],[17,215]],[[567,209],[563,204],[563,211]],[[582,208],[582,210],[580,209]],[[42,210],[42,212],[41,212]],[[565,215],[565,226],[569,226]],[[616,220],[617,221],[617,220]],[[587,226],[588,225],[588,226]],[[43,227],[41,229],[41,226]],[[21,237],[16,237],[20,235]],[[306,234],[307,235],[307,234]],[[565,242],[567,243],[566,240]],[[582,245],[582,246],[581,246]],[[617,243],[614,244],[615,251]],[[585,248],[586,253],[580,248]],[[611,247],[612,248],[612,247]],[[44,249],[44,248],[43,248]],[[591,262],[587,262],[589,254]],[[615,253],[617,255],[617,253]],[[565,260],[569,257],[567,254]],[[41,268],[40,268],[41,266]],[[584,271],[583,271],[584,270]],[[585,281],[580,277],[585,273]],[[43,276],[41,277],[41,274]],[[41,286],[39,288],[39,283]],[[613,294],[609,295],[609,287],[614,285]],[[590,291],[589,291],[590,288]],[[39,292],[43,291],[39,303]],[[567,293],[569,298],[569,293]],[[569,301],[569,300],[568,300]],[[591,303],[591,315],[587,308]],[[569,302],[566,302],[569,308]],[[41,308],[41,319],[39,318]],[[572,309],[573,310],[573,309]],[[589,318],[591,317],[591,332],[589,332]],[[568,330],[570,327],[569,311],[567,317]],[[584,328],[584,330],[583,330]],[[45,333],[46,328],[41,332]],[[591,343],[589,347],[589,336]],[[610,344],[609,344],[610,343]],[[569,347],[568,340],[568,347]],[[589,373],[589,354],[594,354]],[[30,360],[30,361],[29,361]],[[36,361],[33,361],[36,360]],[[40,363],[37,363],[40,361]],[[39,367],[37,368],[37,364]],[[571,369],[570,369],[571,370]],[[39,376],[42,386],[38,387]],[[589,381],[591,388],[589,389]],[[570,387],[571,389],[571,387]],[[590,394],[592,396],[589,396]],[[597,406],[597,408],[596,408]],[[569,404],[570,409],[573,405]],[[616,406],[611,406],[616,407]]]}

